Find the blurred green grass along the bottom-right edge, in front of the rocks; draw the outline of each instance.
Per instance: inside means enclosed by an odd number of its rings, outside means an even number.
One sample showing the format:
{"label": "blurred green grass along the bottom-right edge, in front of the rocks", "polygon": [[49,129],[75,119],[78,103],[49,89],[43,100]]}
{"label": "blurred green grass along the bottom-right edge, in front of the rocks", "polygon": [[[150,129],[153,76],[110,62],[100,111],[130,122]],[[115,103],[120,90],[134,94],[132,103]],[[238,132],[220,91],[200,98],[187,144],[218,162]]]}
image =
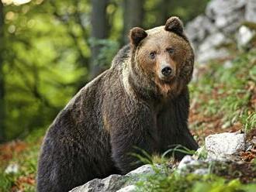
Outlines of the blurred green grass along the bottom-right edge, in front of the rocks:
{"label": "blurred green grass along the bottom-right edge, in front of the rocks", "polygon": [[179,173],[171,173],[168,176],[164,174],[153,174],[147,177],[147,180],[137,183],[138,191],[170,191],[170,192],[242,192],[254,191],[256,184],[244,185],[239,180],[227,181],[213,174],[196,175],[188,174],[183,176]]}

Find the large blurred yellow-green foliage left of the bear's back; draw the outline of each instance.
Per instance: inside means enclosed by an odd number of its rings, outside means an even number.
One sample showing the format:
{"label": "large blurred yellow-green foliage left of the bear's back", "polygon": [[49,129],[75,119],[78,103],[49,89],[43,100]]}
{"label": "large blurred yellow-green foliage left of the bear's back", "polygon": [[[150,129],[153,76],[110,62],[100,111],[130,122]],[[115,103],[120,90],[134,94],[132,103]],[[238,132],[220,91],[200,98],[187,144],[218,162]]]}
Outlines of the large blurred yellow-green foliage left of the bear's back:
{"label": "large blurred yellow-green foliage left of the bear's back", "polygon": [[[87,73],[76,64],[80,50],[70,29],[58,22],[51,8],[35,1],[5,6],[6,139],[46,128]],[[81,36],[75,25],[72,30]]]}

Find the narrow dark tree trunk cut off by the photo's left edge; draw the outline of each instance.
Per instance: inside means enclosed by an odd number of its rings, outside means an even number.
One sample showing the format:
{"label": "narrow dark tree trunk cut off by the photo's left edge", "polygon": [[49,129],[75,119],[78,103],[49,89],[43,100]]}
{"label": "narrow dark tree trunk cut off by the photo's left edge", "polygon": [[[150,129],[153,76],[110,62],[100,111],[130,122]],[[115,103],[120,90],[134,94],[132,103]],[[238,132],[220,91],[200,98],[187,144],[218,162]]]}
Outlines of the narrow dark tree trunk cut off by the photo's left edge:
{"label": "narrow dark tree trunk cut off by the photo's left edge", "polygon": [[0,1],[0,143],[5,141],[5,83],[3,74],[4,12]]}

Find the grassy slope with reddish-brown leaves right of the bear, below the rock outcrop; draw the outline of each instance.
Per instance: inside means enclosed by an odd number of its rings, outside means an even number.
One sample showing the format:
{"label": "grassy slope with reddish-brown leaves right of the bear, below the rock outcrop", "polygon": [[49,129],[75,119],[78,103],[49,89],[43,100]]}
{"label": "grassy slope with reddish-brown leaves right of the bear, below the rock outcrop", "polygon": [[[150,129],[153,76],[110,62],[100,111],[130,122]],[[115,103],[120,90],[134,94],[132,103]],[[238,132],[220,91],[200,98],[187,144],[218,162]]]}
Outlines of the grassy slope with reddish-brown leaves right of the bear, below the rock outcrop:
{"label": "grassy slope with reddish-brown leaves right of the bear, below the rock outcrop", "polygon": [[246,132],[254,129],[256,103],[251,101],[255,82],[256,50],[240,53],[230,67],[223,62],[209,63],[199,80],[190,84],[195,111],[205,117],[219,115],[227,127],[239,124]]}

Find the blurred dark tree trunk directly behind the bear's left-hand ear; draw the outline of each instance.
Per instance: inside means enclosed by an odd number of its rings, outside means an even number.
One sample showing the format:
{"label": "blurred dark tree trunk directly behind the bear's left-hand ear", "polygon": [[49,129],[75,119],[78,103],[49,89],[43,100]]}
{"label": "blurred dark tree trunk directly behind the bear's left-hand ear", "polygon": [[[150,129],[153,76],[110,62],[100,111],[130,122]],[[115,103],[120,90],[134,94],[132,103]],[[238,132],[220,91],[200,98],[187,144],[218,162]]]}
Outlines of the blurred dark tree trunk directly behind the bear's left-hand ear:
{"label": "blurred dark tree trunk directly behind the bear's left-hand ear", "polygon": [[128,43],[130,29],[142,27],[144,20],[144,0],[123,1],[123,44]]}

